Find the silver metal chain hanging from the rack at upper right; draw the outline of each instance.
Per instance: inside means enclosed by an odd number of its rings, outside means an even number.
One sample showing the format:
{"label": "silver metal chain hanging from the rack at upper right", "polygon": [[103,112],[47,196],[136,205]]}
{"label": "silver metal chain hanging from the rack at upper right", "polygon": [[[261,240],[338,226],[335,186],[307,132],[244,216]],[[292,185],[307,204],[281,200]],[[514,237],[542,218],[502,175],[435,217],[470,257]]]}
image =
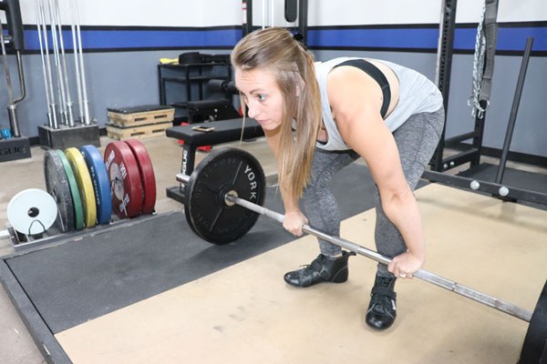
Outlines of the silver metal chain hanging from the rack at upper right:
{"label": "silver metal chain hanging from the rack at upper right", "polygon": [[471,115],[482,118],[487,106],[482,108],[479,103],[480,88],[482,87],[482,72],[484,71],[484,59],[486,53],[486,35],[482,32],[484,24],[484,16],[486,14],[486,1],[482,8],[479,26],[477,27],[477,37],[475,39],[475,54],[473,56],[473,81],[470,99],[468,106],[471,107]]}

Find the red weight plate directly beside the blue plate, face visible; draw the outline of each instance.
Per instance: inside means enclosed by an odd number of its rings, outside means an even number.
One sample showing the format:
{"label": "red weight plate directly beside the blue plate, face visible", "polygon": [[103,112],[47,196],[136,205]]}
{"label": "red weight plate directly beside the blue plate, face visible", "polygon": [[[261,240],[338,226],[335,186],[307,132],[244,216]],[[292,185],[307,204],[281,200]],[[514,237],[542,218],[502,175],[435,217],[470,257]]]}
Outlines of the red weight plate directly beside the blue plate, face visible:
{"label": "red weight plate directly beside the blue plate, face visible", "polygon": [[105,149],[104,160],[112,190],[112,208],[120,218],[139,216],[143,191],[133,152],[122,141],[111,142]]}

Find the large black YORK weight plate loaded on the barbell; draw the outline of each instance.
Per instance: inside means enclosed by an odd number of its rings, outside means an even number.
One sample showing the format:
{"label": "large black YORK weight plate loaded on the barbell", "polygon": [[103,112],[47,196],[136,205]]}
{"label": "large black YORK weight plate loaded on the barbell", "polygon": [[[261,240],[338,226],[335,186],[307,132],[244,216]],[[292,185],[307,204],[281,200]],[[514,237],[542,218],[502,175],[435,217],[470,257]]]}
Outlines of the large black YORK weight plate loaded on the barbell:
{"label": "large black YORK weight plate loaded on the barbell", "polygon": [[227,244],[243,237],[258,214],[241,206],[228,206],[224,196],[237,196],[263,205],[263,168],[251,154],[240,149],[220,149],[194,169],[184,189],[184,213],[192,230],[213,244]]}

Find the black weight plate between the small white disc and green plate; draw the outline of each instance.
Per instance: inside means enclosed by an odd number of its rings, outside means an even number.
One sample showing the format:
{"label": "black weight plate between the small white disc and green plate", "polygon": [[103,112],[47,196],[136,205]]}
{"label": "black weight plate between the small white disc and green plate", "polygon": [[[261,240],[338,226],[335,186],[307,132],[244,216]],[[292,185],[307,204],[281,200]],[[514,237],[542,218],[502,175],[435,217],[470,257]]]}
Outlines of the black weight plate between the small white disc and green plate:
{"label": "black weight plate between the small white disc and green plate", "polygon": [[57,203],[58,215],[55,221],[61,232],[74,231],[74,204],[68,185],[67,173],[57,150],[47,150],[44,155],[46,190]]}

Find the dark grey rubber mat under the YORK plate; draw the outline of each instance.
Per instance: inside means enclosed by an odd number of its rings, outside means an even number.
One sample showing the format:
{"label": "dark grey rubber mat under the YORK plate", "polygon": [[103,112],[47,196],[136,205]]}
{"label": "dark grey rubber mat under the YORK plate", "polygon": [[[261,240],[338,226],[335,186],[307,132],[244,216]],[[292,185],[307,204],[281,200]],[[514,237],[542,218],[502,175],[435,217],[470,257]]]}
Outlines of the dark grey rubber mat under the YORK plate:
{"label": "dark grey rubber mat under the YORK plate", "polygon": [[[333,189],[341,217],[372,207],[372,188],[366,167],[354,164],[340,171]],[[267,188],[265,206],[283,211],[276,187]],[[13,274],[43,319],[38,324],[55,334],[293,239],[279,224],[260,217],[240,240],[214,246],[197,238],[179,211],[129,220],[54,247],[5,257],[8,269],[0,269],[0,274]],[[25,309],[19,310],[26,315]]]}

